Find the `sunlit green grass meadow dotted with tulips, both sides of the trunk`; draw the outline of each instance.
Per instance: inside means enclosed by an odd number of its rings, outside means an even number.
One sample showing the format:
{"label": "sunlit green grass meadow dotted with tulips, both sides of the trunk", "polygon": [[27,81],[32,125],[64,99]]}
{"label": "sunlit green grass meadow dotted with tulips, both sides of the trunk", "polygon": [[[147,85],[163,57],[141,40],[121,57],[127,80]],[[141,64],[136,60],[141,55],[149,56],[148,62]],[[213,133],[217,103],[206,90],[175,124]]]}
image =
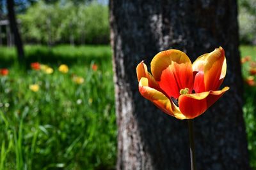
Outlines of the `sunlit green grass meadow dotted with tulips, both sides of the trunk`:
{"label": "sunlit green grass meadow dotted with tulips, both sides of the trunk", "polygon": [[[110,46],[26,46],[25,51],[26,64],[20,66],[14,48],[0,47],[0,68],[8,68],[8,75],[0,76],[0,170],[115,169]],[[241,46],[241,56],[247,55],[243,111],[256,169],[256,87],[248,83],[256,47]]]}

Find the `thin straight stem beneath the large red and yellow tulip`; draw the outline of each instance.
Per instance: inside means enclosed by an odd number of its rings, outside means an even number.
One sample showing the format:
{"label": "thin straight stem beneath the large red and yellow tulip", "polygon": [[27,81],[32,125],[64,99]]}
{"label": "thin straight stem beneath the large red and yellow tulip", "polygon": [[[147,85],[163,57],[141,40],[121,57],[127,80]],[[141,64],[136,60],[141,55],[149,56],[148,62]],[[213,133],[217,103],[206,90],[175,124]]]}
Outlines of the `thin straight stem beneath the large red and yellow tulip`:
{"label": "thin straight stem beneath the large red and yellow tulip", "polygon": [[191,170],[196,170],[195,140],[194,140],[194,124],[193,124],[193,122],[194,122],[193,119],[188,119],[190,165],[191,165]]}

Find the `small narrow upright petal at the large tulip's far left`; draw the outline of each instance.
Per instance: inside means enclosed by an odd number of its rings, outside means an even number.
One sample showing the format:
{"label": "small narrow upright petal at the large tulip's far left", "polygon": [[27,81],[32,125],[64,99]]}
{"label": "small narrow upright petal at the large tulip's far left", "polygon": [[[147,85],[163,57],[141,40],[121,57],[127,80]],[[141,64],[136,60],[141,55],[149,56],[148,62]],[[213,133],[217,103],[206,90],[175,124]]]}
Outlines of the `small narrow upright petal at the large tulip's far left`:
{"label": "small narrow upright petal at the large tulip's far left", "polygon": [[140,64],[138,64],[138,66],[136,67],[136,72],[137,72],[138,81],[140,81],[142,77],[145,77],[148,79],[148,87],[152,87],[153,89],[160,90],[159,85],[157,84],[154,77],[150,73],[148,73],[147,66],[146,64],[144,64],[143,61],[141,61]]}

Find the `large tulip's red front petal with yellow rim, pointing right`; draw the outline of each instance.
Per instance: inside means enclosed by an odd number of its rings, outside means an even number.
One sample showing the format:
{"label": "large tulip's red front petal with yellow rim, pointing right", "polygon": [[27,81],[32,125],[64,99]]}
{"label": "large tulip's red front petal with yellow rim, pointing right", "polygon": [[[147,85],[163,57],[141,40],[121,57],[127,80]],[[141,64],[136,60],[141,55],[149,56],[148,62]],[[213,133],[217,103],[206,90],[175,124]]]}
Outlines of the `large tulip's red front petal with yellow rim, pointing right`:
{"label": "large tulip's red front petal with yellow rim, pointing right", "polygon": [[198,94],[183,94],[179,97],[179,109],[186,118],[195,118],[204,113],[214,104],[229,87],[222,90],[202,92]]}

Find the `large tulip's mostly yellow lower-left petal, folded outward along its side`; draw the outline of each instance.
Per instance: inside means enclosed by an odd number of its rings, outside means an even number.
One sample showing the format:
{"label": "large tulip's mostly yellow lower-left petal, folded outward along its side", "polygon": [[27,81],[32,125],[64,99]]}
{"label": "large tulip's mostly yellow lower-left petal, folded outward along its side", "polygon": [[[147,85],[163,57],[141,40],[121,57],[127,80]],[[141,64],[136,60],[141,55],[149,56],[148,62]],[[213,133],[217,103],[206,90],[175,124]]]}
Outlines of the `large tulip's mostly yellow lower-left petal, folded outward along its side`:
{"label": "large tulip's mostly yellow lower-left petal, folded outward along its side", "polygon": [[141,96],[145,97],[149,101],[152,101],[157,108],[164,111],[168,115],[173,115],[172,102],[162,92],[157,91],[151,87],[148,87],[148,79],[142,77],[139,82],[139,90]]}

